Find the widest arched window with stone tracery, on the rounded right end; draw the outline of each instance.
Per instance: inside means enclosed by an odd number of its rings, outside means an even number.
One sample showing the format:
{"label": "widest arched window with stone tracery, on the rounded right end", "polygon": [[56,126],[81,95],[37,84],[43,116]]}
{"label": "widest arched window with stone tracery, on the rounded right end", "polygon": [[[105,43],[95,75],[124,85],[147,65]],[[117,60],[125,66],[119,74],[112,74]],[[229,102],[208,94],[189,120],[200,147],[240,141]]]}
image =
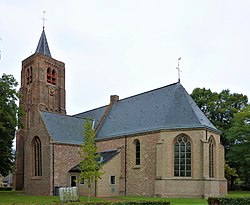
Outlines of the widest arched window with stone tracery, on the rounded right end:
{"label": "widest arched window with stone tracery, on the rounded right end", "polygon": [[174,176],[191,177],[191,142],[186,135],[180,135],[175,139]]}

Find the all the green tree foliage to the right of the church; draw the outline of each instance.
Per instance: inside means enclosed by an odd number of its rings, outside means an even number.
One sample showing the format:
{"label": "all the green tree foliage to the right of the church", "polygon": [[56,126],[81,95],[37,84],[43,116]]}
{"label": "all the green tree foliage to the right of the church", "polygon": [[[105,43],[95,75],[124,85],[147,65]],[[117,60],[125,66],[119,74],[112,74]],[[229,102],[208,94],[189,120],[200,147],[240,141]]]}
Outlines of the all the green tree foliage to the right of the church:
{"label": "all the green tree foliage to the right of the church", "polygon": [[[215,127],[222,131],[221,142],[225,146],[228,165],[237,171],[240,178],[243,177],[244,181],[249,183],[250,149],[247,149],[247,146],[250,147],[250,118],[247,96],[232,94],[229,90],[217,93],[210,89],[196,88],[191,97]],[[231,187],[234,187],[237,177],[230,175],[233,170],[225,168],[226,177],[231,180]]]}

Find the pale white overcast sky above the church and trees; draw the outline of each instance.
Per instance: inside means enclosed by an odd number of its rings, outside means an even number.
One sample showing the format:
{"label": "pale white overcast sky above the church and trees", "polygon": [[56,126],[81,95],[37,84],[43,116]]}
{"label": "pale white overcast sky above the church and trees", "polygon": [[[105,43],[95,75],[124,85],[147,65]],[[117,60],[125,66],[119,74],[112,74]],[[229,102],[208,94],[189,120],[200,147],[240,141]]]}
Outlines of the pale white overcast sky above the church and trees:
{"label": "pale white overcast sky above the church and trees", "polygon": [[46,11],[52,57],[66,65],[75,114],[178,81],[250,98],[249,0],[0,0],[0,74],[20,82]]}

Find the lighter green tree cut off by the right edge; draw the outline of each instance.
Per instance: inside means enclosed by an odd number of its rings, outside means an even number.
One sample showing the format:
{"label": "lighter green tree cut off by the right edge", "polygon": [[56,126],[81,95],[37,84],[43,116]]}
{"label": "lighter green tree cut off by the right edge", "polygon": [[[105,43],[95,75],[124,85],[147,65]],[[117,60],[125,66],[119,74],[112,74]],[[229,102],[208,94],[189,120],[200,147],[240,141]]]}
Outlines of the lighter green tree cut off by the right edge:
{"label": "lighter green tree cut off by the right edge", "polygon": [[234,115],[227,136],[231,141],[228,162],[236,168],[240,179],[250,185],[250,105]]}

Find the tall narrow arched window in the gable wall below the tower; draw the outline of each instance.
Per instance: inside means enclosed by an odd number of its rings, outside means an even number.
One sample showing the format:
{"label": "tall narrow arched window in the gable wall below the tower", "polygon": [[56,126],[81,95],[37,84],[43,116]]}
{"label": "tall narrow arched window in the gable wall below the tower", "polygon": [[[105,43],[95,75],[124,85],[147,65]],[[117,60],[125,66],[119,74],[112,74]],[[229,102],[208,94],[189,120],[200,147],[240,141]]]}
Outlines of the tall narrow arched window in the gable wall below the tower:
{"label": "tall narrow arched window in the gable wall below the tower", "polygon": [[42,146],[39,137],[34,137],[32,143],[33,151],[33,175],[42,176]]}

